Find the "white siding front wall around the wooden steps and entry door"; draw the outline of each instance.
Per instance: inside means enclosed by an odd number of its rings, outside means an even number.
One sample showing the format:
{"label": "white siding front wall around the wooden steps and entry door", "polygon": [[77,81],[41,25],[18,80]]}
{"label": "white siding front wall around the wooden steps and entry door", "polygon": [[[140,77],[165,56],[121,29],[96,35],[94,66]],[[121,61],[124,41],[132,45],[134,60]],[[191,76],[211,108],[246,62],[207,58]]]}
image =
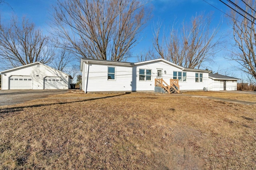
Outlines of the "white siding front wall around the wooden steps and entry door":
{"label": "white siding front wall around the wooden steps and entry door", "polygon": [[[151,81],[140,81],[139,80],[139,69],[149,69],[152,70],[152,80]],[[196,72],[182,71],[180,68],[171,66],[170,64],[164,63],[162,61],[157,61],[150,64],[140,64],[134,66],[133,75],[136,75],[136,82],[133,84],[133,91],[154,91],[154,80],[157,77],[157,70],[162,69],[162,78],[167,83],[170,84],[170,79],[173,78],[173,72],[186,72],[186,82],[179,81],[180,90],[203,90],[204,87],[208,87],[208,73],[203,73],[203,82],[196,82]],[[166,74],[165,72],[166,71]],[[198,72],[202,73],[202,72]],[[133,78],[135,79],[135,78]]]}

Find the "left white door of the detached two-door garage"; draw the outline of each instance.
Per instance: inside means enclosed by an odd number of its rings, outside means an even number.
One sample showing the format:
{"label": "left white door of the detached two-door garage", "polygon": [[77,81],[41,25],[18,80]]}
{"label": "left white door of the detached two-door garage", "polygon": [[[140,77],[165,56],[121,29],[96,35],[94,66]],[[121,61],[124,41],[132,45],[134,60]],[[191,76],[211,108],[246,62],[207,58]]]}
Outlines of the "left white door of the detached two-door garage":
{"label": "left white door of the detached two-door garage", "polygon": [[32,89],[32,78],[30,76],[10,76],[10,89]]}

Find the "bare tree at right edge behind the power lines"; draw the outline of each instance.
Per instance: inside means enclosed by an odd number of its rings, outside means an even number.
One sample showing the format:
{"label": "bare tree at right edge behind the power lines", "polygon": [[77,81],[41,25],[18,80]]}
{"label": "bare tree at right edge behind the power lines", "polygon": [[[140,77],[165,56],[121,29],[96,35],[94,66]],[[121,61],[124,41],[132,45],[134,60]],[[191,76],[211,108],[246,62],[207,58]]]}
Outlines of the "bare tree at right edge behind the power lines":
{"label": "bare tree at right edge behind the power lines", "polygon": [[[256,2],[255,0],[244,0],[244,3],[236,4],[243,8],[247,13],[243,16],[232,11],[231,24],[234,29],[233,39],[235,41],[232,49],[231,60],[240,64],[238,69],[256,78]],[[249,19],[249,20],[248,20]]]}

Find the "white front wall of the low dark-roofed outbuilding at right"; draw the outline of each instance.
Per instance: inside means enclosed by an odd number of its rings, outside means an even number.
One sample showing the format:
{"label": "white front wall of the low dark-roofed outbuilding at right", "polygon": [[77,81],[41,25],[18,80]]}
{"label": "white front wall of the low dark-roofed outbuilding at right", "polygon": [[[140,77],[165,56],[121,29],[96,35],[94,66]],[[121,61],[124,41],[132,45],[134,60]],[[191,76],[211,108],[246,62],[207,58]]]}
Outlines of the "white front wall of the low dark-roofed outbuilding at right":
{"label": "white front wall of the low dark-roofed outbuilding at right", "polygon": [[[209,78],[209,88],[208,90],[212,91],[221,91],[224,90],[224,80],[212,80]],[[236,80],[226,80],[226,90],[237,90],[237,81]]]}

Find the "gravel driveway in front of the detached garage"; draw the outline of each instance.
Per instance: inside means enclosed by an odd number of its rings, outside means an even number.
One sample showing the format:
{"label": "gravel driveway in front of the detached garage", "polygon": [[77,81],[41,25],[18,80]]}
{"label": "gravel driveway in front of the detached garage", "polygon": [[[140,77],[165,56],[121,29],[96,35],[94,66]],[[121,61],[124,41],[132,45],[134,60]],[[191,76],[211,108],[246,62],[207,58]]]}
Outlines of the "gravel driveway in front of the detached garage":
{"label": "gravel driveway in front of the detached garage", "polygon": [[67,92],[68,90],[0,90],[0,106],[24,103]]}

